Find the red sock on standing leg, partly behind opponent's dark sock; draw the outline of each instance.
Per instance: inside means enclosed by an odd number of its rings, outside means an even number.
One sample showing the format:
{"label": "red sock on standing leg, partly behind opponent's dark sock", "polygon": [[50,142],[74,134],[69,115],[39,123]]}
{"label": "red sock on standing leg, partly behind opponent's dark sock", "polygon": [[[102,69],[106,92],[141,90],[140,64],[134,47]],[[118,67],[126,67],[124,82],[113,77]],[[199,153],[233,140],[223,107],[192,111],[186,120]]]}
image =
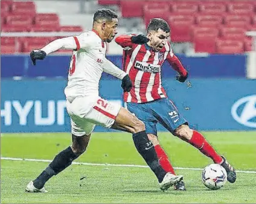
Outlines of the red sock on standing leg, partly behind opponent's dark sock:
{"label": "red sock on standing leg, partly behind opponent's dark sock", "polygon": [[166,172],[170,172],[170,173],[176,175],[173,170],[173,167],[171,166],[171,162],[169,161],[168,156],[166,155],[166,153],[164,152],[162,147],[159,144],[155,145],[155,150],[156,150],[156,155],[158,156],[159,164],[161,165],[161,167]]}

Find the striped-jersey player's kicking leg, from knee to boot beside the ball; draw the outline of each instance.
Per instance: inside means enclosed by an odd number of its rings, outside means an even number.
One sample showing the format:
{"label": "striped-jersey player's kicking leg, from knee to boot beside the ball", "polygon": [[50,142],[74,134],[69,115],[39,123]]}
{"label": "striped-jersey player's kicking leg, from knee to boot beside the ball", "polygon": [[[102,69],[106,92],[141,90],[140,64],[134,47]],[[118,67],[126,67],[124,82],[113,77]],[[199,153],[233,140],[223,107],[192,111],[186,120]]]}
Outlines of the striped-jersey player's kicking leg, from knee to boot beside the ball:
{"label": "striped-jersey player's kicking leg, from knee to boot beside the ball", "polygon": [[236,180],[235,169],[226,161],[223,156],[220,156],[214,148],[206,141],[203,135],[196,130],[191,130],[187,125],[179,126],[175,131],[174,135],[183,139],[196,147],[203,155],[213,159],[214,163],[222,165],[225,168],[228,175],[228,181],[234,183]]}

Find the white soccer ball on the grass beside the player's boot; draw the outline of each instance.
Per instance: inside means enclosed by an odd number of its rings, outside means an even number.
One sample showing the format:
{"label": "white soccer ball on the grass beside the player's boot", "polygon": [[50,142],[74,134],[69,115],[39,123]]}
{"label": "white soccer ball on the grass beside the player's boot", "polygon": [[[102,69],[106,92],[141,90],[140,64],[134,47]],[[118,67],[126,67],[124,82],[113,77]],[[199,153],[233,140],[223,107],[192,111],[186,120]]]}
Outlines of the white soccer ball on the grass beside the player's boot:
{"label": "white soccer ball on the grass beside the player's boot", "polygon": [[202,182],[211,190],[217,190],[226,183],[226,170],[219,164],[210,164],[202,172]]}

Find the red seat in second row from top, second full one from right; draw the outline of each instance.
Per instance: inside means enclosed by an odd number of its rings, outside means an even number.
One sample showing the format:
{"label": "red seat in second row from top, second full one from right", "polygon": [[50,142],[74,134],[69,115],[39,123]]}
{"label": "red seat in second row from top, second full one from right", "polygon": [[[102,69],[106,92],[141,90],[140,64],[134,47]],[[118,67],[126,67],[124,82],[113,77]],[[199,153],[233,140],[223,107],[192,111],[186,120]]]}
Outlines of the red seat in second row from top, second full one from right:
{"label": "red seat in second row from top, second full one from right", "polygon": [[196,16],[196,24],[200,27],[219,27],[222,25],[222,16],[200,14]]}

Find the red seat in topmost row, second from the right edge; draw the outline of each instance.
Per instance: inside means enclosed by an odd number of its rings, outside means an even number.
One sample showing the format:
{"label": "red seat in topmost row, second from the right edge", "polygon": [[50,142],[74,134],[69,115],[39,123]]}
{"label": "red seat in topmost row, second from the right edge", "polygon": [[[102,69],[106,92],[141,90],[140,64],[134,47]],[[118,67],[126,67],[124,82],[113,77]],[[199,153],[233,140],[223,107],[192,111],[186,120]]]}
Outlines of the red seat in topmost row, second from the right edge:
{"label": "red seat in topmost row, second from the right edge", "polygon": [[202,14],[223,14],[226,12],[225,4],[203,3],[199,5],[199,11]]}

